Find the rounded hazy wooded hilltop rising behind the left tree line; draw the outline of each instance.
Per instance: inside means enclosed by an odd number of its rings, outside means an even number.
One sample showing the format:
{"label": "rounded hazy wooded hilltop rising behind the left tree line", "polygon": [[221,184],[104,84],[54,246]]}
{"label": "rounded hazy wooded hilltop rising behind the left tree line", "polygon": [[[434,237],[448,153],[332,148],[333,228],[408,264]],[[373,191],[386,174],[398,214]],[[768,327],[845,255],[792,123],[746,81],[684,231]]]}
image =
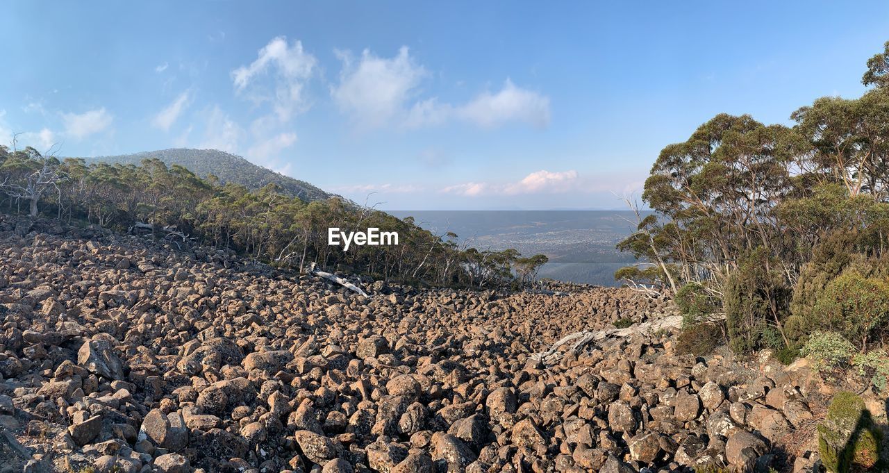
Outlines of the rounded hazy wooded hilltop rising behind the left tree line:
{"label": "rounded hazy wooded hilltop rising behind the left tree line", "polygon": [[180,164],[191,172],[205,178],[212,173],[223,182],[240,184],[251,190],[274,183],[288,196],[299,196],[306,201],[324,200],[334,196],[316,188],[305,180],[293,179],[262,166],[252,164],[241,156],[232,155],[218,149],[172,148],[145,151],[132,155],[96,156],[86,158],[87,162],[120,164],[140,164],[143,159],[156,157],[167,165]]}

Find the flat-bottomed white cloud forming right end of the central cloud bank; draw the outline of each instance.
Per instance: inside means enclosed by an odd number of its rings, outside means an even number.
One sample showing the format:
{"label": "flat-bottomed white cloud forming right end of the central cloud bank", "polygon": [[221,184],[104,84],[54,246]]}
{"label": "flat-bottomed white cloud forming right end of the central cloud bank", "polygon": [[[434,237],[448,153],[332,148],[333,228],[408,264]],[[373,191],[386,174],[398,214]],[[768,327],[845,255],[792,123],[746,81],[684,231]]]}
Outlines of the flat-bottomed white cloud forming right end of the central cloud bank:
{"label": "flat-bottomed white cloud forming right end of the central cloud bank", "polygon": [[478,95],[462,106],[458,114],[463,119],[488,128],[512,121],[544,128],[549,124],[549,98],[519,88],[507,79],[500,92]]}

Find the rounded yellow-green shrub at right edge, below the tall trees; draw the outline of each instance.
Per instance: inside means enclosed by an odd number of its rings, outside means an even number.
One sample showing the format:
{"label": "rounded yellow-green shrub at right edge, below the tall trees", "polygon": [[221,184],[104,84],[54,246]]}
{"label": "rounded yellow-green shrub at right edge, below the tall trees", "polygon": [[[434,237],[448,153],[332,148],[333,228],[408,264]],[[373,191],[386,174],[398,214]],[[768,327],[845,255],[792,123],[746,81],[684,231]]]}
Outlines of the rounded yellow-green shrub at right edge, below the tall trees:
{"label": "rounded yellow-green shrub at right edge, below the tall trees", "polygon": [[889,318],[889,285],[883,278],[844,273],[825,287],[813,312],[821,329],[842,333],[864,348]]}

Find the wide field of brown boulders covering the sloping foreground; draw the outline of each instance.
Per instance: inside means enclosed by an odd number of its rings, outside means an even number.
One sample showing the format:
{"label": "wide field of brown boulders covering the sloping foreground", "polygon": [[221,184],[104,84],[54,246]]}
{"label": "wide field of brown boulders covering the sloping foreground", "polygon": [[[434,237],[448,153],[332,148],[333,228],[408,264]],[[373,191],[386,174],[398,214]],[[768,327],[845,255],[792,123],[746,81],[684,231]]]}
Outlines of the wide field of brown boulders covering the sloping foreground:
{"label": "wide field of brown boulders covering the sloping foreground", "polygon": [[814,471],[805,367],[663,331],[530,357],[669,301],[364,288],[5,217],[0,472]]}

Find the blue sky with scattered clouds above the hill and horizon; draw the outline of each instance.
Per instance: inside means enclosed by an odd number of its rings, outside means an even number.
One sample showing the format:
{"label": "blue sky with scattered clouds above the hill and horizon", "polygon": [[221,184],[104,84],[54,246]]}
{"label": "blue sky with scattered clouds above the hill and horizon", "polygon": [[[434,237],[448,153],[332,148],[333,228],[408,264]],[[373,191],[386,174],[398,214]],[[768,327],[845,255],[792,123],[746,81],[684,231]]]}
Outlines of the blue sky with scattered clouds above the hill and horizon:
{"label": "blue sky with scattered clouds above the hill and horizon", "polygon": [[885,2],[14,1],[0,141],[220,148],[382,209],[614,208],[720,112],[864,91]]}

